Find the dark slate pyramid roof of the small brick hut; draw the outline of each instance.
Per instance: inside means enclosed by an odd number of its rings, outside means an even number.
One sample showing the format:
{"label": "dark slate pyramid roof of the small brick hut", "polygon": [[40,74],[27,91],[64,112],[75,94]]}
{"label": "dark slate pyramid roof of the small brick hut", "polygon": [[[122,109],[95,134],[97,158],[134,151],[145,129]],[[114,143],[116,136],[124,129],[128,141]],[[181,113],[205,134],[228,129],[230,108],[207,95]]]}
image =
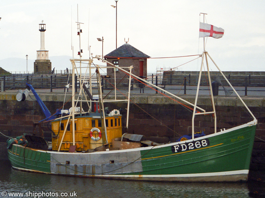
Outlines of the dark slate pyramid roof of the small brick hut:
{"label": "dark slate pyramid roof of the small brick hut", "polygon": [[105,58],[110,57],[138,57],[138,58],[150,58],[150,56],[146,55],[145,53],[141,52],[140,50],[132,47],[132,45],[125,43],[116,50],[108,53],[104,56]]}

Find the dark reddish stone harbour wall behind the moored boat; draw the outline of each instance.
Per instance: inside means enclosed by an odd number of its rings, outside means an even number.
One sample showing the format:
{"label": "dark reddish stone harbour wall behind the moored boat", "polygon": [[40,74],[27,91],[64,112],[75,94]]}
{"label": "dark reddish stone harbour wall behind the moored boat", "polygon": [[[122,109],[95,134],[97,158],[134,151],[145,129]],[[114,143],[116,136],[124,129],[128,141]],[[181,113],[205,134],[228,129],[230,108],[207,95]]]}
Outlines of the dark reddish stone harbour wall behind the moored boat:
{"label": "dark reddish stone harbour wall behind the moored boat", "polygon": [[[47,108],[53,113],[63,105],[64,94],[39,94]],[[122,98],[118,96],[118,98]],[[32,97],[34,98],[34,97]],[[194,98],[184,96],[185,100],[194,103]],[[66,101],[70,99],[67,95]],[[108,99],[112,99],[109,96]],[[265,170],[265,99],[243,97],[243,100],[258,120],[254,149],[252,153],[251,169]],[[162,96],[145,96],[138,95],[132,98],[135,103],[130,104],[130,116],[128,131],[123,128],[123,133],[134,133],[150,137],[155,142],[177,141],[182,135],[191,133],[192,110],[190,106],[180,105]],[[217,115],[217,131],[223,128],[232,128],[242,123],[247,123],[253,119],[246,111],[241,101],[233,97],[214,97]],[[198,106],[211,111],[211,100],[200,98]],[[71,103],[65,104],[64,109],[69,109]],[[122,125],[126,124],[127,103],[119,102],[118,104],[105,104],[110,110],[119,109],[122,116]],[[16,137],[23,133],[33,132],[33,122],[45,118],[37,101],[27,99],[24,102],[17,102],[15,93],[0,94],[0,132],[6,136]],[[87,106],[83,106],[86,109]],[[214,131],[214,119],[212,115],[199,115],[195,117],[195,132],[210,134]],[[45,138],[51,138],[49,126],[47,123],[42,124]],[[36,130],[38,134],[38,128]],[[7,138],[0,134],[0,156],[7,158],[6,154]],[[4,150],[4,151],[3,151]]]}

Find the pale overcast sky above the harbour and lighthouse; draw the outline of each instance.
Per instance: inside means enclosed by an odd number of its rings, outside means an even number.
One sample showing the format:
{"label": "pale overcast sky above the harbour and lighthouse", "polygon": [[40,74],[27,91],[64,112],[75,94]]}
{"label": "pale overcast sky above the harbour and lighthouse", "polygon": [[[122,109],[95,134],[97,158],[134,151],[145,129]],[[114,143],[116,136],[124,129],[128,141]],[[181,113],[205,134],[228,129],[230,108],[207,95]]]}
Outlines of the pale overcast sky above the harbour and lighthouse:
{"label": "pale overcast sky above the harbour and lighthouse", "polygon": [[[265,71],[265,1],[264,0],[119,0],[117,2],[117,46],[124,38],[143,53],[155,57],[201,54],[200,12],[207,13],[208,24],[224,29],[222,38],[208,38],[206,50],[223,71]],[[39,23],[46,23],[45,49],[49,57],[74,56],[79,51],[77,4],[83,31],[83,58],[102,55],[104,37],[106,55],[116,48],[116,10],[114,0],[11,0],[0,3],[0,60],[16,57],[37,58],[40,49]],[[89,33],[88,33],[89,25]],[[71,39],[72,26],[72,39]],[[89,35],[89,37],[88,37]],[[88,44],[89,41],[89,44]],[[195,57],[149,59],[148,71],[157,67],[177,67]],[[180,66],[197,70],[200,61]],[[33,65],[28,66],[33,70]],[[31,68],[32,67],[32,68]],[[216,71],[213,65],[211,70]],[[5,68],[4,68],[5,69]],[[9,68],[9,71],[12,69]]]}

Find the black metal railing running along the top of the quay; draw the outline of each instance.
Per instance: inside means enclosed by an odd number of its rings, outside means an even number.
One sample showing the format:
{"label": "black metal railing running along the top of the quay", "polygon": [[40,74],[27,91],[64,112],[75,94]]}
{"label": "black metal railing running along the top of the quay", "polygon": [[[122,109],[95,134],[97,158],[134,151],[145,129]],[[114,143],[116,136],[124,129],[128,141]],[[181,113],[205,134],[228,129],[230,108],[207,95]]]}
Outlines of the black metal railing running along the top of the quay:
{"label": "black metal railing running along the top of the quay", "polygon": [[[248,76],[228,76],[228,79],[230,79],[230,83],[233,87],[241,87],[240,91],[242,91],[242,87],[245,87],[243,91],[245,91],[245,95],[247,95],[248,87],[260,87],[257,88],[255,91],[264,91],[261,87],[265,87],[265,77],[264,79],[255,79],[254,77],[251,77],[251,75]],[[196,76],[189,75],[188,77],[183,75],[169,75],[169,76],[147,76],[145,77],[146,80],[151,82],[152,84],[155,84],[158,87],[161,87],[163,89],[173,89],[173,90],[179,90],[183,89],[184,94],[186,94],[187,90],[194,90],[194,88],[191,88],[191,86],[197,86]],[[88,79],[82,79],[85,80],[85,83],[88,83]],[[102,76],[101,79],[101,86],[103,89],[113,89],[113,86],[111,84],[113,83],[113,79],[109,76]],[[52,92],[52,89],[60,89],[64,88],[66,89],[66,85],[68,83],[72,84],[72,75],[62,76],[62,75],[41,75],[41,76],[29,76],[29,75],[11,75],[11,76],[2,76],[0,77],[0,86],[1,91],[4,92],[6,90],[11,89],[24,89],[26,82],[31,84],[35,89],[50,89],[50,92]],[[77,82],[77,76],[75,76],[75,82]],[[96,77],[92,77],[92,88],[97,88],[97,79]],[[117,87],[126,87],[128,86],[128,79],[116,79],[116,82],[119,82],[117,84]],[[223,86],[228,86],[228,84],[221,80]],[[140,89],[144,92],[144,89],[148,89],[145,85],[141,84],[138,80],[132,79],[131,82],[131,89]],[[190,87],[188,87],[190,86]],[[201,80],[201,86],[208,86],[208,83],[206,80]],[[76,83],[75,85],[75,91],[77,92],[77,89],[80,88],[80,84]],[[155,89],[155,93],[157,92],[157,88]],[[238,91],[238,90],[237,90]],[[250,90],[249,90],[250,91]]]}

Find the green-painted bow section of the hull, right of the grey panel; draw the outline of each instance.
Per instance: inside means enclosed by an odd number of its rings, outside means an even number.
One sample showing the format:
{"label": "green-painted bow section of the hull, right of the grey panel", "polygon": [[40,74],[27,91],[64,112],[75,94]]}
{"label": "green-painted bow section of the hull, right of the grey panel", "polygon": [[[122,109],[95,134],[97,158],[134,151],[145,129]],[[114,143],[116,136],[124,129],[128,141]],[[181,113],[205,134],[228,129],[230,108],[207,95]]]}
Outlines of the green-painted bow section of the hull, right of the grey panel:
{"label": "green-painted bow section of the hull, right of the grey panel", "polygon": [[208,137],[207,146],[184,151],[185,146],[180,146],[181,151],[176,153],[168,147],[142,151],[143,171],[148,175],[165,175],[249,170],[255,131],[256,126],[250,126]]}

